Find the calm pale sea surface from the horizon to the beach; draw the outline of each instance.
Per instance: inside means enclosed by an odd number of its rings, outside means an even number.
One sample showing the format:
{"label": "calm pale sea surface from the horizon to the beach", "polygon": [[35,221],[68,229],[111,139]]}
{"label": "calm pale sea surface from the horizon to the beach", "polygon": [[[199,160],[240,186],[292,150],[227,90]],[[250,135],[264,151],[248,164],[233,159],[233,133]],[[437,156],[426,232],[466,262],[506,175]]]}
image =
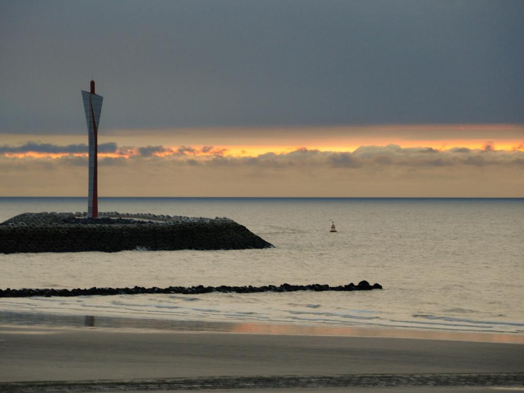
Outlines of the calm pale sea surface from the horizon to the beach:
{"label": "calm pale sea surface from the horizon to the beach", "polygon": [[[84,198],[0,198],[0,222],[85,206]],[[0,323],[13,313],[31,313],[524,333],[524,199],[101,198],[99,206],[226,216],[276,248],[0,254],[0,288],[365,279],[384,290],[0,298]]]}

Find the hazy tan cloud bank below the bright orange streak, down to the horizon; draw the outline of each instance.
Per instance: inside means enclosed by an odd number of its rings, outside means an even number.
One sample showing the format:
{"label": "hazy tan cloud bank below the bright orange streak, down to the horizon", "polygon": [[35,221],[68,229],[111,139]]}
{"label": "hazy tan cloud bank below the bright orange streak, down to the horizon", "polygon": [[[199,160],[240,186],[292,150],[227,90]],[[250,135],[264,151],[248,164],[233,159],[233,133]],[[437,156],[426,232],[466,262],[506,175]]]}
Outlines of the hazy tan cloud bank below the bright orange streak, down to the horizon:
{"label": "hazy tan cloud bank below the bright orange streak, down to the horizon", "polygon": [[[162,151],[158,147],[151,150]],[[67,189],[68,194],[83,195],[87,165],[87,157],[71,154],[56,159],[0,155],[0,183],[8,185],[3,188],[6,194],[9,184],[24,179],[26,188],[16,189],[17,195],[40,189],[52,195],[50,182],[55,188]],[[522,196],[524,192],[524,151],[512,150],[450,149],[428,154],[421,148],[389,145],[362,146],[354,152],[298,149],[256,157],[215,156],[208,150],[194,155],[101,157],[99,169],[104,173],[105,195],[112,196],[121,195],[123,189],[127,195],[150,195],[150,190],[158,196],[172,195],[173,190],[178,193],[179,187],[173,188],[173,182],[166,179],[184,184],[189,195],[213,196],[231,195],[232,190],[243,196],[325,196],[315,193],[319,183],[320,189],[329,188],[341,196],[434,196],[435,192],[471,196],[472,189],[482,196]],[[64,178],[71,181],[64,183]],[[272,188],[275,182],[277,191]],[[144,184],[155,187],[144,190]],[[205,185],[205,190],[195,192],[199,185]]]}

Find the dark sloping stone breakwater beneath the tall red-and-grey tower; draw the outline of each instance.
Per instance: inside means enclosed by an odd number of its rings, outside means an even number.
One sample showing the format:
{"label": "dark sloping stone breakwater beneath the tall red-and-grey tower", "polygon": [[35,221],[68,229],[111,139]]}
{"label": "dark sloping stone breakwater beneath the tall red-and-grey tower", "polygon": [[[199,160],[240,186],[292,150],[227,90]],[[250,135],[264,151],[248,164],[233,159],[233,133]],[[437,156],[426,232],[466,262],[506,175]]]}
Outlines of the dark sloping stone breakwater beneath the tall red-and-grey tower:
{"label": "dark sloping stone breakwater beneath the tall red-and-grey tower", "polygon": [[225,217],[155,214],[24,213],[0,224],[0,253],[219,250],[273,247]]}

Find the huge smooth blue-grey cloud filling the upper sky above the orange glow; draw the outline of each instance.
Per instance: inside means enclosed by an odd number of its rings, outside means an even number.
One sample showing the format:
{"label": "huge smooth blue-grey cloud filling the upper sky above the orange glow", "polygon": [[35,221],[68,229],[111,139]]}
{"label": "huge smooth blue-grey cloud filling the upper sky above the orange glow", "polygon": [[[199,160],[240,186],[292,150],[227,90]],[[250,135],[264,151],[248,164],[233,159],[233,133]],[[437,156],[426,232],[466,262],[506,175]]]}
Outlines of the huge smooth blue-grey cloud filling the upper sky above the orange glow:
{"label": "huge smooth blue-grey cloud filling the upper sky above the orange glow", "polygon": [[519,0],[2,2],[2,132],[524,123]]}

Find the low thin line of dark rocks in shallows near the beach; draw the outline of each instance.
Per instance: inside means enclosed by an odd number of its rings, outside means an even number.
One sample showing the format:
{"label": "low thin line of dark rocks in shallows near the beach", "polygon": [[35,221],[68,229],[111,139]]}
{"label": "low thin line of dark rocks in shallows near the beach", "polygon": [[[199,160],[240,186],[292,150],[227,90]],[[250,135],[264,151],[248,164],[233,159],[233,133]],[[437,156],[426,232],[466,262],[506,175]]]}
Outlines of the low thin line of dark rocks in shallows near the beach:
{"label": "low thin line of dark rocks in shallows near the beach", "polygon": [[372,289],[382,289],[382,286],[378,283],[370,285],[366,280],[359,282],[355,285],[353,282],[347,285],[339,285],[336,287],[330,287],[328,284],[311,284],[311,285],[290,285],[288,283],[280,286],[265,285],[261,287],[243,286],[243,287],[231,287],[227,285],[221,285],[220,287],[204,287],[203,285],[193,287],[133,287],[133,288],[89,288],[89,289],[0,289],[0,298],[27,298],[32,296],[89,296],[89,295],[119,295],[119,294],[141,294],[141,293],[178,293],[178,294],[202,294],[211,292],[222,292],[222,293],[256,293],[256,292],[296,292],[296,291],[369,291]]}

